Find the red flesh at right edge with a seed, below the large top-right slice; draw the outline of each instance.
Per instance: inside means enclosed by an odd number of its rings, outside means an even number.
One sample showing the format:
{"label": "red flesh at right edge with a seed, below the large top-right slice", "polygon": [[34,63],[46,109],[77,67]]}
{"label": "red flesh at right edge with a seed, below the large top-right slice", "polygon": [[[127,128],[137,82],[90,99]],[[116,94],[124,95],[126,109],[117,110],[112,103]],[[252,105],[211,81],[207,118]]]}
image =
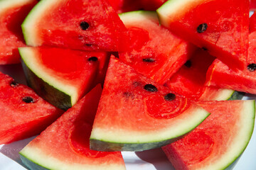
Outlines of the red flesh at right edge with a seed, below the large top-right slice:
{"label": "red flesh at right edge with a seed, below the large top-right slice", "polygon": [[247,67],[234,71],[227,65],[215,60],[207,72],[206,85],[218,88],[233,89],[249,94],[256,94],[256,31],[250,33],[250,46],[248,48]]}

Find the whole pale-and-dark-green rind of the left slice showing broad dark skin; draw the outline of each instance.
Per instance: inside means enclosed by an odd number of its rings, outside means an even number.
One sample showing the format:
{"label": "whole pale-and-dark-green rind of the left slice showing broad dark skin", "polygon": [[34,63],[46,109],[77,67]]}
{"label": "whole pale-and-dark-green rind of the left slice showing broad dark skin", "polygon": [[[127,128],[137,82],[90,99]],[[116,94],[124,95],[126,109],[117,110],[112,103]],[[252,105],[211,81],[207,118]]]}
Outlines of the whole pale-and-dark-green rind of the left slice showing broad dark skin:
{"label": "whole pale-and-dark-green rind of the left slice showing broad dark skin", "polygon": [[[56,79],[53,79],[48,74],[44,74],[36,62],[32,61],[33,54],[27,47],[19,47],[18,51],[21,55],[21,64],[28,85],[31,86],[37,93],[41,94],[41,97],[46,99],[49,103],[58,108],[67,110],[73,106],[77,101],[76,90],[72,86],[62,84]],[[32,71],[33,70],[33,71]],[[48,82],[51,82],[49,84]],[[54,96],[46,96],[46,94],[53,94]]]}

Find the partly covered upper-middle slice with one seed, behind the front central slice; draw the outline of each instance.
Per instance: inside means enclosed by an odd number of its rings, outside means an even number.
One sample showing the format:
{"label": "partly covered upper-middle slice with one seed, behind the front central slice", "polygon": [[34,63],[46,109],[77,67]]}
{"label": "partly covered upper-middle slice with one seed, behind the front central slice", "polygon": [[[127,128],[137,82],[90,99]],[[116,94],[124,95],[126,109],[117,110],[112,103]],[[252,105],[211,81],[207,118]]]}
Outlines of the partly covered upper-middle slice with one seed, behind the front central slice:
{"label": "partly covered upper-middle slice with one seed, behind the front central slice", "polygon": [[132,11],[119,16],[133,44],[132,51],[119,52],[120,60],[159,84],[164,84],[196,50],[191,43],[159,26],[154,11]]}

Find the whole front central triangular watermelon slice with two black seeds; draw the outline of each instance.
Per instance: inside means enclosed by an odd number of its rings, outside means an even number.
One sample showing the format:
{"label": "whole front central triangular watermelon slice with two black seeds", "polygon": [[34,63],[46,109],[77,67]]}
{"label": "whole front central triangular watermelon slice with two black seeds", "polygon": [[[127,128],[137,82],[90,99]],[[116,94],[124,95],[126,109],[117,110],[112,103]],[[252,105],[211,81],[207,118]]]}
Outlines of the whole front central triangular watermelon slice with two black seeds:
{"label": "whole front central triangular watermelon slice with two black seeds", "polygon": [[141,151],[161,147],[196,128],[207,116],[193,102],[111,57],[90,148]]}

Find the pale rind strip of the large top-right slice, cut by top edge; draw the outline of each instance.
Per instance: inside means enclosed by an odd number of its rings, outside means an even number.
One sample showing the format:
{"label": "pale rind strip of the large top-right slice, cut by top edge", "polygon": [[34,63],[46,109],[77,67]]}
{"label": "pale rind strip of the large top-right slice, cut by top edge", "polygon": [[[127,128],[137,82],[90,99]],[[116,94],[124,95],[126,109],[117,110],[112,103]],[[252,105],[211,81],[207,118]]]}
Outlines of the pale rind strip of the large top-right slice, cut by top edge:
{"label": "pale rind strip of the large top-right slice, cut by top edge", "polygon": [[169,27],[169,23],[178,20],[190,8],[210,0],[169,0],[156,10],[161,25]]}

